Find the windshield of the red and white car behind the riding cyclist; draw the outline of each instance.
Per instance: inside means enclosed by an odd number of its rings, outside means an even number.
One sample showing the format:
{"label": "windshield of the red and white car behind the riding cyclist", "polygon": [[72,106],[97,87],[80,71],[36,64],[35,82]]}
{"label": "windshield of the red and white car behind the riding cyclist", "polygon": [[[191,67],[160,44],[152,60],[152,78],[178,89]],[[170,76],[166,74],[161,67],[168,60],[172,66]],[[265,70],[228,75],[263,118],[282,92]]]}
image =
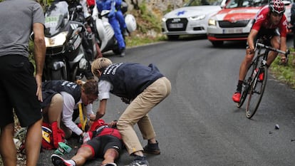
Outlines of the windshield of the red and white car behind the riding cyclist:
{"label": "windshield of the red and white car behind the riding cyclist", "polygon": [[225,8],[257,7],[268,4],[267,0],[229,0]]}

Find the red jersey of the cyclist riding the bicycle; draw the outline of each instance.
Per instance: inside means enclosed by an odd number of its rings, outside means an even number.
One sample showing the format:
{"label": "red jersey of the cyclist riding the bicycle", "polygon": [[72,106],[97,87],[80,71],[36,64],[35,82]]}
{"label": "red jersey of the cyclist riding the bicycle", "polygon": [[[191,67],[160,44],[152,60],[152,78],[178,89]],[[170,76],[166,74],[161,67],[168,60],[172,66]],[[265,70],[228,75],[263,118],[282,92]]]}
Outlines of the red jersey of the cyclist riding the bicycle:
{"label": "red jersey of the cyclist riding the bicycle", "polygon": [[256,21],[254,25],[252,26],[253,29],[259,31],[260,28],[279,28],[279,33],[281,34],[281,37],[286,37],[286,27],[287,27],[287,20],[286,16],[283,14],[281,17],[281,21],[277,25],[271,24],[269,16],[267,14],[269,13],[269,6],[264,6],[257,14]]}

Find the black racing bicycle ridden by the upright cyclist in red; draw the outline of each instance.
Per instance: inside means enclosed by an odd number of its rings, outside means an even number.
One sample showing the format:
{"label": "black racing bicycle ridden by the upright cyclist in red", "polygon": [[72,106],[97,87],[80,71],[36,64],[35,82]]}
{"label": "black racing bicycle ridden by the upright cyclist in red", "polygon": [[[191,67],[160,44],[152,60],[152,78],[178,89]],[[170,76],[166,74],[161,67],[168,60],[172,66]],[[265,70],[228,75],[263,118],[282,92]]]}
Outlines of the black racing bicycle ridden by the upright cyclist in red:
{"label": "black racing bicycle ridden by the upright cyclist in red", "polygon": [[246,107],[247,118],[252,118],[256,113],[264,94],[268,74],[266,61],[269,51],[276,51],[277,53],[284,54],[286,56],[285,63],[288,62],[290,51],[280,51],[279,49],[272,48],[271,46],[266,46],[261,40],[257,40],[254,50],[254,58],[248,68],[247,75],[245,76],[244,83],[242,85],[241,99],[239,103],[237,103],[238,108],[242,107],[244,101],[249,95]]}

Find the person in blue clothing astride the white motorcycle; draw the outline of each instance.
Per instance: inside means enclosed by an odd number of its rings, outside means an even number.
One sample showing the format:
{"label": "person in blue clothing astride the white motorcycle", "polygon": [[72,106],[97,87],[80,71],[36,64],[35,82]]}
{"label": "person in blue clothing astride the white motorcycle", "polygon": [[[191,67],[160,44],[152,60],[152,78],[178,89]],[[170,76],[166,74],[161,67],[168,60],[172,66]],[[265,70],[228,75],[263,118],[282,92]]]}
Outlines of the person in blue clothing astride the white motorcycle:
{"label": "person in blue clothing astride the white motorcycle", "polygon": [[120,56],[125,56],[125,41],[123,35],[120,30],[119,21],[116,18],[116,11],[115,11],[115,4],[116,0],[97,0],[96,6],[98,8],[98,12],[101,13],[103,10],[110,10],[108,14],[108,22],[113,27],[115,32],[115,38],[118,41],[118,46],[120,49]]}

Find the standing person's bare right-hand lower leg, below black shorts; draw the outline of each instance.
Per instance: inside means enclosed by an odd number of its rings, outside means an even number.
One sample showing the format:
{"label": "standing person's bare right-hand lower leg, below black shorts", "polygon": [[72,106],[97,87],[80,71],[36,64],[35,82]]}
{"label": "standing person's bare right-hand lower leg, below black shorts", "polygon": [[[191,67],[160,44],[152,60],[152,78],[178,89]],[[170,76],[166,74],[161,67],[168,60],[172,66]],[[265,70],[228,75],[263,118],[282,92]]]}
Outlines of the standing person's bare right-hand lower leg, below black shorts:
{"label": "standing person's bare right-hand lower leg, below black shorts", "polygon": [[[42,141],[42,119],[30,125],[26,133],[26,165],[37,165]],[[2,146],[1,146],[2,147]]]}

